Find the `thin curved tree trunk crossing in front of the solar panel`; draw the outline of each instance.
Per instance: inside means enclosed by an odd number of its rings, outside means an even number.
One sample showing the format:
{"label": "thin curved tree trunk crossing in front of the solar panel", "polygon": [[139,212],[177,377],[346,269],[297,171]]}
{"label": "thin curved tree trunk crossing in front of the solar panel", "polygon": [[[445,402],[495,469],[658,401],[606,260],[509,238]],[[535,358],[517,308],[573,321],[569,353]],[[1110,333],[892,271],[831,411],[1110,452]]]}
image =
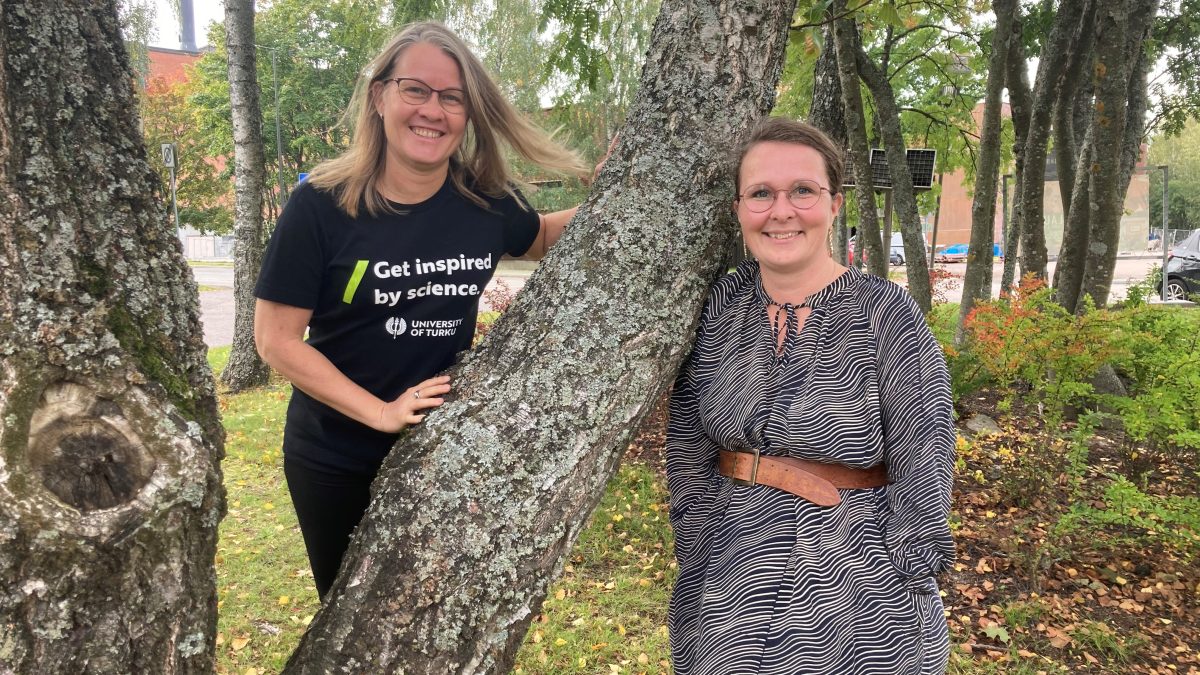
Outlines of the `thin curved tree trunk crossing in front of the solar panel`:
{"label": "thin curved tree trunk crossing in front of the solar panel", "polygon": [[[905,268],[908,273],[908,294],[917,300],[920,311],[929,313],[934,306],[932,289],[929,282],[929,263],[925,259],[925,237],[920,232],[920,214],[917,211],[917,197],[912,189],[912,174],[908,172],[907,149],[904,133],[900,131],[900,109],[896,107],[895,94],[886,73],[858,46],[858,73],[871,90],[875,100],[877,121],[883,131],[883,145],[888,156],[888,175],[892,178],[892,199],[895,204],[896,219],[900,221],[900,235],[904,239]],[[888,241],[890,249],[890,241]],[[883,253],[887,256],[888,253]],[[887,264],[887,257],[884,257]]]}

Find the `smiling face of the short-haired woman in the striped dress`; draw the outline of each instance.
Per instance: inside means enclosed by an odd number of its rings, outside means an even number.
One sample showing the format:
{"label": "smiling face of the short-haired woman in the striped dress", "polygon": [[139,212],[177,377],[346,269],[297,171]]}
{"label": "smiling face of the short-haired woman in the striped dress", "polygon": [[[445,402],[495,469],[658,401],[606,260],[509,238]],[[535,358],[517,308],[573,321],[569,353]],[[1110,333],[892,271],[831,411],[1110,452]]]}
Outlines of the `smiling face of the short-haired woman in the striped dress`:
{"label": "smiling face of the short-haired woman in the striped dress", "polygon": [[742,237],[764,275],[803,274],[832,262],[827,243],[841,208],[841,195],[820,190],[816,203],[806,209],[798,209],[787,199],[787,191],[799,180],[829,187],[820,153],[794,143],[757,143],[742,159],[738,177],[742,195],[755,186],[766,186],[775,195],[774,203],[763,213],[754,213],[744,198],[733,204]]}

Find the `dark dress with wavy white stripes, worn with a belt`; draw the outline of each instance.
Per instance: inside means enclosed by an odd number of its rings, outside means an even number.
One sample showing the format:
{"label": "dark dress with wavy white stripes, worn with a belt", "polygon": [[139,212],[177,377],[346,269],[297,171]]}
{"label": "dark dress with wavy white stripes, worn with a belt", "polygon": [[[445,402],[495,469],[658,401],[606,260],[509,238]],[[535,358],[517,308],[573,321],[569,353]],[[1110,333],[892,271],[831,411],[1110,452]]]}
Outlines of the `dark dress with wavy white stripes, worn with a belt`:
{"label": "dark dress with wavy white stripes, worn with a belt", "polygon": [[[677,675],[942,673],[934,574],[954,558],[949,377],[899,286],[851,269],[796,306],[776,354],[758,264],[721,279],[667,431]],[[720,448],[870,467],[884,488],[820,507],[716,473]]]}

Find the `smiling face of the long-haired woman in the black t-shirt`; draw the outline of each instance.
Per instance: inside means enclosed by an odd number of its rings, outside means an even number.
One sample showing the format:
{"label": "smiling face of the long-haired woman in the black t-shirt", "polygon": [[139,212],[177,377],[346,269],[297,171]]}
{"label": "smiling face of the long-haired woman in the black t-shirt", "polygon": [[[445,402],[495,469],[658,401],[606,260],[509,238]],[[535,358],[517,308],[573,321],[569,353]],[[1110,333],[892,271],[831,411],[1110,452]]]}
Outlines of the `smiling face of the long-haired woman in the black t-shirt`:
{"label": "smiling face of the long-haired woman in the black t-shirt", "polygon": [[[433,89],[463,89],[458,64],[428,42],[418,42],[400,54],[388,79],[398,77],[419,79]],[[376,82],[372,88],[376,112],[383,117],[388,139],[385,173],[392,179],[412,174],[444,175],[467,131],[467,112],[448,113],[437,94],[424,103],[408,103],[400,96],[395,82]]]}

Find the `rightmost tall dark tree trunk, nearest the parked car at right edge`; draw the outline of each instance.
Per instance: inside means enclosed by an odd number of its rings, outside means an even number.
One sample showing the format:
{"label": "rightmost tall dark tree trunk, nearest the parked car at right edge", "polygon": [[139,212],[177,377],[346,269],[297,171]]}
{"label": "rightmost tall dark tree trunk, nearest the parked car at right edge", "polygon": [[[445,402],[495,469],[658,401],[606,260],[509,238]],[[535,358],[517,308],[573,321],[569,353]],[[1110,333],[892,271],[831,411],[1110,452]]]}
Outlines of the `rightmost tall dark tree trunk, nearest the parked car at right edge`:
{"label": "rightmost tall dark tree trunk, nearest the parked car at right edge", "polygon": [[[1096,163],[1088,189],[1094,207],[1076,310],[1081,309],[1084,294],[1096,306],[1109,301],[1126,191],[1145,124],[1145,50],[1157,7],[1157,0],[1111,0],[1097,10],[1100,38],[1096,47],[1092,114]],[[1129,119],[1130,113],[1138,119]]]}

